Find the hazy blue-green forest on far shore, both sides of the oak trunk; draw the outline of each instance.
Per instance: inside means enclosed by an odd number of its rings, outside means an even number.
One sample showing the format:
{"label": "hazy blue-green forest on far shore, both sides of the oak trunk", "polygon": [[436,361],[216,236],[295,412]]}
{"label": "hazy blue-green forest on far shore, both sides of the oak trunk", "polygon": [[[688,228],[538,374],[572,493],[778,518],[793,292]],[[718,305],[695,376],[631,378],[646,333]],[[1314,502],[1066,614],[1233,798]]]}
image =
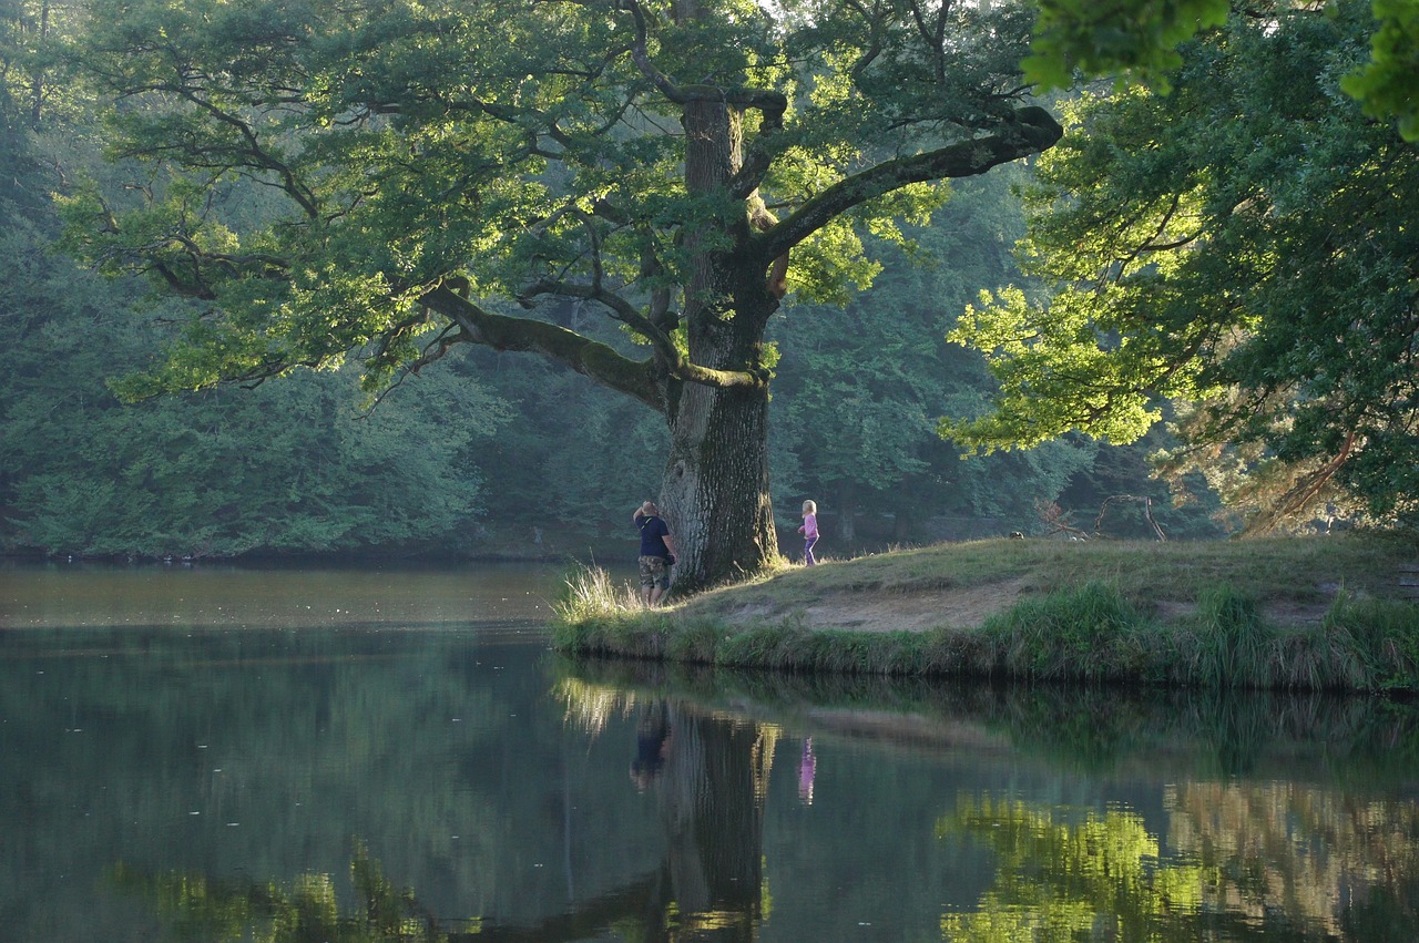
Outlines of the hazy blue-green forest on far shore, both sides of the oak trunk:
{"label": "hazy blue-green forest on far shore, both sides of the oak trunk", "polygon": [[[152,360],[182,320],[179,302],[155,309],[145,285],[102,279],[54,251],[51,194],[77,176],[118,177],[102,159],[99,102],[47,79],[45,44],[65,20],[37,21],[23,3],[0,6],[0,547],[481,557],[629,545],[630,509],[663,474],[663,423],[524,355],[460,349],[372,410],[352,372],[309,370],[121,404],[109,381]],[[1236,529],[1240,518],[1200,475],[1181,495],[1149,475],[1149,455],[1174,444],[1164,425],[1127,447],[1066,435],[971,458],[938,435],[941,415],[979,414],[996,389],[985,359],[946,335],[982,289],[1029,284],[1012,250],[1025,234],[1017,187],[1030,174],[1015,163],[955,183],[911,233],[911,257],[868,247],[884,264],[870,291],[775,315],[782,530],[797,525],[805,498],[823,510],[830,554],[1042,533],[1057,513],[1091,529],[1105,506],[1103,532],[1148,536],[1142,498],[1168,536]],[[576,303],[552,316],[622,342]]]}

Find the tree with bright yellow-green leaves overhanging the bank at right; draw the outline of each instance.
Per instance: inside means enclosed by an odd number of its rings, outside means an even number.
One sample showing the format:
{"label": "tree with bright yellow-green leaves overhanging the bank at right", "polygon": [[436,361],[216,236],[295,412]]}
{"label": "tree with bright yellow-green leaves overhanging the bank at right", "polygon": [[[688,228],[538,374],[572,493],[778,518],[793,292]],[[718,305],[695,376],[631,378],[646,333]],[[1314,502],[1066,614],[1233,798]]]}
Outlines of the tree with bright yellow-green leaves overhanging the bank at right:
{"label": "tree with bright yellow-green leaves overhanging the bank at right", "polygon": [[[1175,471],[1252,526],[1324,503],[1419,513],[1419,152],[1341,92],[1374,28],[1355,0],[1237,16],[1182,48],[1166,96],[1087,95],[1040,162],[1025,268],[956,337],[996,411],[948,423],[983,448],[1084,430],[1138,438],[1185,404]],[[1256,11],[1253,11],[1256,13]]]}

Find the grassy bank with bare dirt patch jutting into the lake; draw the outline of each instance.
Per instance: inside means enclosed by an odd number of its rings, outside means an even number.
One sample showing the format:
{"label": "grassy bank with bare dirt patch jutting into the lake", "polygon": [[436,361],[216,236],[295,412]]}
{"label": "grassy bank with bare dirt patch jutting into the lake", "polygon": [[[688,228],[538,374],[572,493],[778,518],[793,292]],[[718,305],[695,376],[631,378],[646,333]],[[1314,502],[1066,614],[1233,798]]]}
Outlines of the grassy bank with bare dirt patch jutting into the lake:
{"label": "grassy bank with bare dirt patch jutting into the lake", "polygon": [[1415,692],[1415,535],[978,540],[780,567],[660,610],[580,570],[553,638],[779,671]]}

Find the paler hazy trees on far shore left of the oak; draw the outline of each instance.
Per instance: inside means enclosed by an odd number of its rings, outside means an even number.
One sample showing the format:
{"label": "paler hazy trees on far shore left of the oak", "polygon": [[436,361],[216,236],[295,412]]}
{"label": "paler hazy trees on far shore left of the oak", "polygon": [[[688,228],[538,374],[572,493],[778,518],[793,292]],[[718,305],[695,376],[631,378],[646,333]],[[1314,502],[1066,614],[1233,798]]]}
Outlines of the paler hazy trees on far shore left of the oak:
{"label": "paler hazy trees on far shore left of the oak", "polygon": [[0,549],[397,550],[467,530],[484,503],[473,455],[507,414],[473,380],[423,377],[423,396],[397,390],[363,421],[350,372],[119,407],[106,377],[160,335],[132,312],[138,285],[53,252],[48,194],[105,169],[88,102],[45,71],[38,37],[62,33],[61,13],[75,9],[0,6]]}

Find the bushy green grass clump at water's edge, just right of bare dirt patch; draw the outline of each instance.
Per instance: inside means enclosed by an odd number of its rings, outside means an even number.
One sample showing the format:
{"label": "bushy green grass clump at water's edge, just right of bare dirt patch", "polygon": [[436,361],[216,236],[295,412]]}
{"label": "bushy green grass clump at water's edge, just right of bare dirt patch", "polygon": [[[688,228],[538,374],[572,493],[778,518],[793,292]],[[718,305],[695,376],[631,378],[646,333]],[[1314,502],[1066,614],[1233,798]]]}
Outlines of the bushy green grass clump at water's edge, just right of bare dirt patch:
{"label": "bushy green grass clump at water's edge, just right of bare dirt patch", "polygon": [[1098,581],[1025,600],[982,627],[1006,674],[1090,682],[1141,678],[1147,630],[1147,618]]}

